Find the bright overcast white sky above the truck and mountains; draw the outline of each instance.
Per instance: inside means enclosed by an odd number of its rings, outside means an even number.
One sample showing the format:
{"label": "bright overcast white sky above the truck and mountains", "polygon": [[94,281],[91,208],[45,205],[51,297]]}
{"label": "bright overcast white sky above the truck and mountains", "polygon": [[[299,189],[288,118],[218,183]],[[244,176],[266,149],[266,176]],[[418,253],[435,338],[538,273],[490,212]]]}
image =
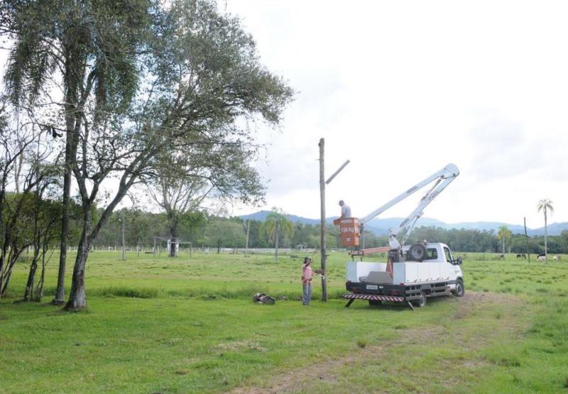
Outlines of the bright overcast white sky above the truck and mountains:
{"label": "bright overcast white sky above the truck and mountains", "polygon": [[[461,174],[425,210],[447,222],[568,221],[568,3],[226,0],[261,60],[297,90],[258,163],[266,207],[364,217],[447,163]],[[385,212],[406,216],[420,199]],[[407,200],[407,201],[408,201]],[[235,207],[234,214],[258,210]]]}

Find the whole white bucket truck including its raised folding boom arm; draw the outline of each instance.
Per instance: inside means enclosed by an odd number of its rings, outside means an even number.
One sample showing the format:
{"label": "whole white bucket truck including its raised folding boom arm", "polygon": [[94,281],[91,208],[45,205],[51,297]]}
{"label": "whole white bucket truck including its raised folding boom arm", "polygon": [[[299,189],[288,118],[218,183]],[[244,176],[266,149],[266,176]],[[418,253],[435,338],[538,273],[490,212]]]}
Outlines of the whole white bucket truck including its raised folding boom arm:
{"label": "whole white bucket truck including its raised folding boom arm", "polygon": [[[464,295],[461,258],[454,259],[447,245],[436,242],[417,242],[412,246],[405,246],[405,241],[413,231],[416,221],[424,214],[423,209],[458,175],[457,166],[448,164],[442,170],[378,207],[366,217],[352,219],[354,232],[357,235],[363,234],[363,226],[367,221],[435,181],[435,184],[420,199],[416,209],[400,223],[398,229],[389,229],[389,246],[350,252],[351,258],[359,256],[361,261],[347,263],[346,290],[349,293],[343,295],[346,300],[349,300],[346,307],[349,307],[354,300],[368,300],[371,305],[393,301],[406,302],[411,308],[413,305],[423,307],[427,297],[452,293],[458,297]],[[404,234],[401,241],[397,238],[399,234]],[[363,261],[366,254],[380,252],[388,252],[386,263]]]}

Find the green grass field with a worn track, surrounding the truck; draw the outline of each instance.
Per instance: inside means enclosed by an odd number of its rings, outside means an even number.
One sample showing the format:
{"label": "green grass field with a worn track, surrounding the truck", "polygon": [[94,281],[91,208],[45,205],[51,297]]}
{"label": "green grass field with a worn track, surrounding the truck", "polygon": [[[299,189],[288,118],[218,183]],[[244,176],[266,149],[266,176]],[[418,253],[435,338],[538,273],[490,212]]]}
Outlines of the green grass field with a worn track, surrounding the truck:
{"label": "green grass field with a worn track, surrounding the truck", "polygon": [[490,258],[467,253],[466,296],[415,312],[344,308],[343,253],[329,258],[332,300],[315,280],[310,307],[289,256],[94,252],[80,313],[47,304],[55,258],[45,303],[14,303],[21,263],[0,300],[0,392],[568,393],[568,261]]}

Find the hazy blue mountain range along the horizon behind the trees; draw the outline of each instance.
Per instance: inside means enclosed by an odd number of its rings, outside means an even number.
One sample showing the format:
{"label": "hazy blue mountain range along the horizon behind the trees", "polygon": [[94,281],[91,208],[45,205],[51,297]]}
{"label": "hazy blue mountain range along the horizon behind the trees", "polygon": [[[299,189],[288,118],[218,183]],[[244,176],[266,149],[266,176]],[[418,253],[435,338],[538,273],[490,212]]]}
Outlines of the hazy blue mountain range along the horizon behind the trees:
{"label": "hazy blue mountain range along the horizon behind the trees", "polygon": [[[248,215],[241,215],[241,219],[253,219],[264,221],[268,214],[271,211],[258,211],[253,214]],[[300,217],[297,215],[286,215],[288,220],[292,222],[300,222],[302,224],[320,224],[320,219],[310,219],[307,217]],[[328,223],[331,223],[333,219],[337,217],[328,217],[326,220]],[[398,226],[400,222],[403,221],[402,217],[391,217],[385,219],[373,219],[369,221],[365,228],[373,231],[374,234],[381,236],[388,234],[388,229],[391,227]],[[518,224],[508,224],[502,223],[499,221],[464,221],[460,223],[445,223],[444,221],[439,221],[437,219],[431,219],[428,217],[422,217],[418,219],[416,226],[435,226],[435,227],[442,227],[442,229],[477,229],[477,230],[486,230],[486,231],[497,231],[500,226],[506,225],[509,227],[510,231],[513,234],[525,234],[525,228]],[[559,235],[562,231],[568,230],[568,222],[565,223],[552,223],[548,225],[548,234],[549,235]],[[535,235],[544,235],[545,228],[540,227],[538,229],[529,229],[527,228],[527,233],[529,236]]]}

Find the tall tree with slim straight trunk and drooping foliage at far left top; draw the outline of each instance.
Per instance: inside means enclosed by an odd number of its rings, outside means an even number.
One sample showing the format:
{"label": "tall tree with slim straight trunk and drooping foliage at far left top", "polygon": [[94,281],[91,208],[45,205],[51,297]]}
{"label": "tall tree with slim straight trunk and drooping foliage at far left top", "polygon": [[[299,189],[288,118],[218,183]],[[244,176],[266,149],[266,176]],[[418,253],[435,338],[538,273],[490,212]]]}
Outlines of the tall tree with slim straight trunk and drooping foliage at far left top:
{"label": "tall tree with slim straight trunk and drooping foliage at far left top", "polygon": [[[153,0],[4,0],[0,32],[13,42],[6,90],[14,104],[53,104],[59,121],[45,121],[53,136],[65,131],[63,210],[56,304],[64,302],[71,176],[86,106],[124,111],[136,90],[136,48]],[[61,80],[62,97],[51,96]],[[97,117],[95,117],[97,119]]]}

